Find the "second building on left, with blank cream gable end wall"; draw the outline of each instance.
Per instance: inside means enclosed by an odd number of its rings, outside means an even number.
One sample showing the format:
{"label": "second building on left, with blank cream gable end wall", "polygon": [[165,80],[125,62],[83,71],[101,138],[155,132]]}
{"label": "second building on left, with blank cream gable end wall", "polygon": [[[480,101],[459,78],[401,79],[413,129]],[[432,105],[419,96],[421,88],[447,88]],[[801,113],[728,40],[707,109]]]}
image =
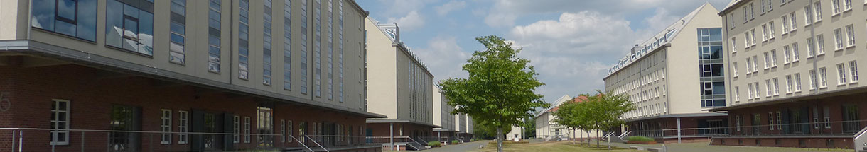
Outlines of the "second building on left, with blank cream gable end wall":
{"label": "second building on left, with blank cream gable end wall", "polygon": [[401,42],[396,24],[368,18],[368,111],[386,115],[370,118],[370,136],[433,135],[433,74]]}

